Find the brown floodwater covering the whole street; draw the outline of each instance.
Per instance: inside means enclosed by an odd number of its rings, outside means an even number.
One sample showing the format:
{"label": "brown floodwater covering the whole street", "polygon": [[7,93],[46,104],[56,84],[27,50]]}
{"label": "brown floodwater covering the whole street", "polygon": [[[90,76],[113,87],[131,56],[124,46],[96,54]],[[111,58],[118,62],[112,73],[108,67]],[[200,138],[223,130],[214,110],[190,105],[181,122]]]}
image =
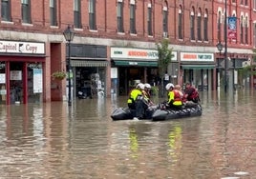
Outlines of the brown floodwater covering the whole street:
{"label": "brown floodwater covering the whole street", "polygon": [[126,97],[1,106],[0,178],[256,178],[256,91],[201,98],[162,122],[112,121]]}

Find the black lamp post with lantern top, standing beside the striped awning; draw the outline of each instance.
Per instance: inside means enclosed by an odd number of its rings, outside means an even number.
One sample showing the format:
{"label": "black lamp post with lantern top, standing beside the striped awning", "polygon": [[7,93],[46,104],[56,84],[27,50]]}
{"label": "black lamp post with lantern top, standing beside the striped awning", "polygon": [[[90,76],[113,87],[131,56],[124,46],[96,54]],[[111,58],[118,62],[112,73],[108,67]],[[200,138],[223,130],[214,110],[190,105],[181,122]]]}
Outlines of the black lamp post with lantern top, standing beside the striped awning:
{"label": "black lamp post with lantern top, standing beside the striped awning", "polygon": [[72,30],[72,28],[70,26],[68,26],[68,28],[63,31],[63,35],[64,35],[65,40],[68,42],[68,45],[69,45],[69,57],[68,57],[68,61],[67,61],[68,80],[69,80],[68,105],[71,106],[72,105],[72,103],[71,103],[71,41],[73,41],[73,39],[74,39],[75,32],[74,32],[74,30]]}

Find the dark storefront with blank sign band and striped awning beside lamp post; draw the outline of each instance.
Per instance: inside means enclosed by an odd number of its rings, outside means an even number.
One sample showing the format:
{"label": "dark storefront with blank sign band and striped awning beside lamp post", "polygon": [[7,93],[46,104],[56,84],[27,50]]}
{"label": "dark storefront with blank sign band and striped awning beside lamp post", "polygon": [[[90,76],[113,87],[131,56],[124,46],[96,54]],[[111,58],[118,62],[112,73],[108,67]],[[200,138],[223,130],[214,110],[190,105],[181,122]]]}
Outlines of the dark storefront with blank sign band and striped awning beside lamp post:
{"label": "dark storefront with blank sign band and striped awning beside lamp post", "polygon": [[71,67],[75,74],[72,79],[73,96],[81,92],[84,98],[106,96],[108,65],[106,46],[72,44]]}

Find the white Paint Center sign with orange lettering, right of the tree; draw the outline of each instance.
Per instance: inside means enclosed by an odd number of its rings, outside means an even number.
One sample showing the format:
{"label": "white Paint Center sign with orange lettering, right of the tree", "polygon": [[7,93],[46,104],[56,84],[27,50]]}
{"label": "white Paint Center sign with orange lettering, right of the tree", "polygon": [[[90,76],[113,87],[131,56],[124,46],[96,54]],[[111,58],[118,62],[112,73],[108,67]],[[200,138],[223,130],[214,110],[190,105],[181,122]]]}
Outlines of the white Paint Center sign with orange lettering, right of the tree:
{"label": "white Paint Center sign with orange lettering, right of the tree", "polygon": [[214,62],[213,53],[181,52],[181,61]]}

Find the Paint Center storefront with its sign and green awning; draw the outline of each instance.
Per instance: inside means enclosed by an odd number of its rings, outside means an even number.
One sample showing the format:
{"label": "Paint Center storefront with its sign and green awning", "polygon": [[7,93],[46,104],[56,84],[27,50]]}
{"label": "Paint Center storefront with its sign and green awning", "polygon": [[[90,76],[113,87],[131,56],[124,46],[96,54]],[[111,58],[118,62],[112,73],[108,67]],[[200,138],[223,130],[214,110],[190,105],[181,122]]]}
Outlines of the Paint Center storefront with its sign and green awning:
{"label": "Paint Center storefront with its sign and green awning", "polygon": [[214,53],[181,52],[182,81],[199,90],[214,89],[215,66]]}

